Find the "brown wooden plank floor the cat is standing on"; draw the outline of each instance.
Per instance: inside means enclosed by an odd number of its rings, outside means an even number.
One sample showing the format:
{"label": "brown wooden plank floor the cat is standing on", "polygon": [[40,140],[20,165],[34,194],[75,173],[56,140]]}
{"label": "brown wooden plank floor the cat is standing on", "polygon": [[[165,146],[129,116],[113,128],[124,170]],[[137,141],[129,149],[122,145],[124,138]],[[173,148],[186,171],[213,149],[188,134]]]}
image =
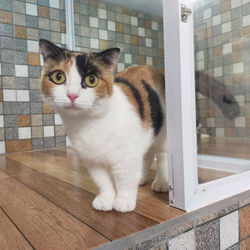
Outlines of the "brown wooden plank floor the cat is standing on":
{"label": "brown wooden plank floor the cat is standing on", "polygon": [[[201,152],[213,153],[205,144]],[[0,156],[0,249],[88,249],[184,214],[167,204],[167,193],[151,191],[153,170],[135,211],[95,211],[97,189],[71,156],[70,149]],[[225,174],[201,169],[199,179]]]}

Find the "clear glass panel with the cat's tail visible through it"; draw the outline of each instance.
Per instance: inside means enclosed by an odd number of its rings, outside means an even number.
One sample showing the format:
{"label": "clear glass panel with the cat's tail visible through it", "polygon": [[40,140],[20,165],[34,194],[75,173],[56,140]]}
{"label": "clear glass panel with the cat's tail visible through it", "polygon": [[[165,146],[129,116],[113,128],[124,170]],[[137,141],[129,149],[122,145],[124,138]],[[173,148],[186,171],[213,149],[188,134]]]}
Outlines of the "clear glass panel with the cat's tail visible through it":
{"label": "clear glass panel with the cat's tail visible through it", "polygon": [[249,7],[193,1],[200,182],[250,169]]}

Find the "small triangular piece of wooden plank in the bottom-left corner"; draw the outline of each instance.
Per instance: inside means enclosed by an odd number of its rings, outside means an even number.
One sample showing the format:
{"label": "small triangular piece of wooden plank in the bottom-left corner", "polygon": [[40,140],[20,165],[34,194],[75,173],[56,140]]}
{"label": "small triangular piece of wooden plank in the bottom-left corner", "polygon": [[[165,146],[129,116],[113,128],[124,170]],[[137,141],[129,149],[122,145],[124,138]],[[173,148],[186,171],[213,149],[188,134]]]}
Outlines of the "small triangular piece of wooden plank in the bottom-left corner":
{"label": "small triangular piece of wooden plank in the bottom-left corner", "polygon": [[32,249],[6,214],[0,209],[0,249]]}

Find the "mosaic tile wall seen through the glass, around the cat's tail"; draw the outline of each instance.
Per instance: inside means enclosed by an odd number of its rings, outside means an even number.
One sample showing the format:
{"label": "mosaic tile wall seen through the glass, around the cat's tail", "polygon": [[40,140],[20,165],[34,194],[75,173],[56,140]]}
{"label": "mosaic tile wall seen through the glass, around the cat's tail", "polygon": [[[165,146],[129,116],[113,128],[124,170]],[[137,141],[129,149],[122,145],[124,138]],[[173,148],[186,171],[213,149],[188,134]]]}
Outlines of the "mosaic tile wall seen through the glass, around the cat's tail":
{"label": "mosaic tile wall seen through the glass, around the cat's tail", "polygon": [[225,83],[241,107],[230,121],[198,95],[203,132],[216,137],[250,138],[250,0],[194,1],[196,69]]}

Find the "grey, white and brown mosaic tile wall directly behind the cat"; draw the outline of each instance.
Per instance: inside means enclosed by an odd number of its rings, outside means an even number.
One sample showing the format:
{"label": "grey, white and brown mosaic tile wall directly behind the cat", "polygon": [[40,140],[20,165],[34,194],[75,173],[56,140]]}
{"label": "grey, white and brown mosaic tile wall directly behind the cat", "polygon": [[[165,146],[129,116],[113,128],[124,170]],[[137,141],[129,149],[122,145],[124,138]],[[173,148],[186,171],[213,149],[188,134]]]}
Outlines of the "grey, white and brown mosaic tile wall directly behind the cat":
{"label": "grey, white and brown mosaic tile wall directly behind the cat", "polygon": [[[162,20],[100,1],[74,1],[76,49],[123,49],[131,64],[163,70]],[[64,0],[0,1],[0,154],[65,147],[58,114],[40,93],[39,38],[65,47]]]}

